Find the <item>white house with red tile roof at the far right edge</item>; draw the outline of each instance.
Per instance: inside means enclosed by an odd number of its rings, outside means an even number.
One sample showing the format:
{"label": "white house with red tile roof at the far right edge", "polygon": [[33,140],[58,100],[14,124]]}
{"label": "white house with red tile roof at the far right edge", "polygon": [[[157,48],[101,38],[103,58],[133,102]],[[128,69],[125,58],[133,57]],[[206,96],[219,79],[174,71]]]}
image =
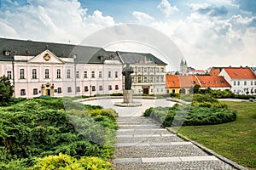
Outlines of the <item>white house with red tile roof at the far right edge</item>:
{"label": "white house with red tile roof at the far right edge", "polygon": [[234,94],[256,94],[256,76],[249,67],[225,67],[219,76],[230,83]]}

